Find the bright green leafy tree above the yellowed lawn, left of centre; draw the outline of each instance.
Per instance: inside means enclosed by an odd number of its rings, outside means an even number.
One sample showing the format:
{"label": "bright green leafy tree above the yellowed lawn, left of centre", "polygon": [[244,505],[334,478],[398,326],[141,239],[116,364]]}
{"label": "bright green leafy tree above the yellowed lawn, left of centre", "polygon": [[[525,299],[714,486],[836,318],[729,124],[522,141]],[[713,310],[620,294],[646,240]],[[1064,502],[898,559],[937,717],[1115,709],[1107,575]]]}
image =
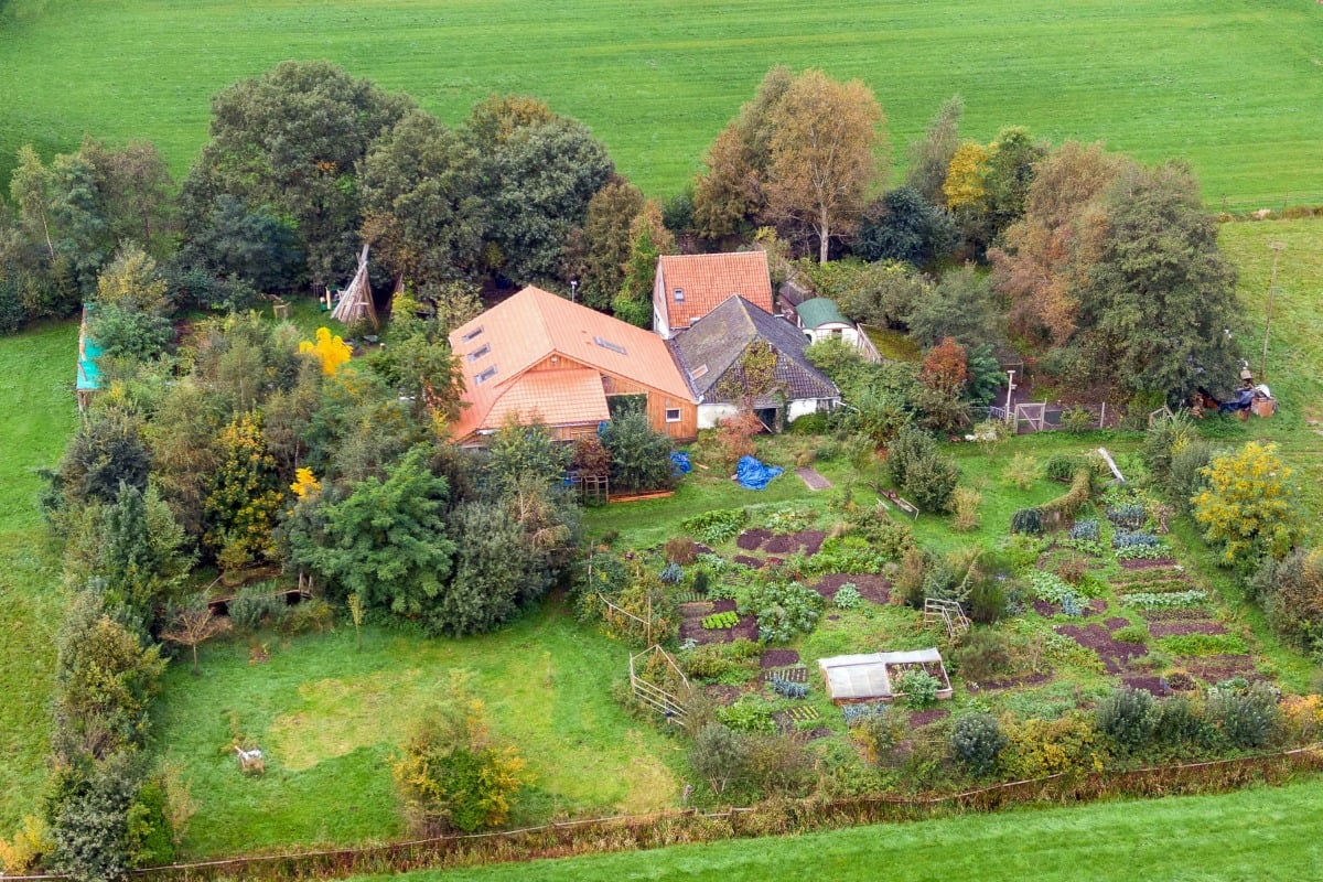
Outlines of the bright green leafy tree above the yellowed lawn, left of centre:
{"label": "bright green leafy tree above the yellowed lawn, left of centre", "polygon": [[386,469],[385,480],[366,477],[343,501],[321,501],[320,533],[291,532],[294,562],[341,596],[357,594],[368,608],[401,619],[425,616],[445,588],[455,553],[443,520],[448,487],[427,469],[427,454],[414,447]]}

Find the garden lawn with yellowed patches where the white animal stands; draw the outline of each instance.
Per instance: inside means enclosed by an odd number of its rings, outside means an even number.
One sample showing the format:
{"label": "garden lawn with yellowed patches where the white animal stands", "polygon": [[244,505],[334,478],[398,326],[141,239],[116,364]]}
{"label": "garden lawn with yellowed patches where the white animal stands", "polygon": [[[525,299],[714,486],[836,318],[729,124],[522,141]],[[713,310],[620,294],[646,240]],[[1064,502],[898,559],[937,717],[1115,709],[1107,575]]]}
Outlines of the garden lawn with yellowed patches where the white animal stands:
{"label": "garden lawn with yellowed patches where the white animal stands", "polygon": [[[352,627],[331,635],[263,637],[202,648],[202,673],[172,665],[157,739],[197,799],[189,856],[239,854],[386,840],[405,833],[390,758],[413,723],[443,698],[454,670],[472,672],[492,730],[517,744],[534,775],[527,816],[648,812],[676,803],[679,743],[631,719],[611,698],[623,645],[583,629],[560,606],[496,633],[429,640]],[[257,741],[266,775],[239,774],[234,733]],[[335,811],[327,811],[328,807]]]}

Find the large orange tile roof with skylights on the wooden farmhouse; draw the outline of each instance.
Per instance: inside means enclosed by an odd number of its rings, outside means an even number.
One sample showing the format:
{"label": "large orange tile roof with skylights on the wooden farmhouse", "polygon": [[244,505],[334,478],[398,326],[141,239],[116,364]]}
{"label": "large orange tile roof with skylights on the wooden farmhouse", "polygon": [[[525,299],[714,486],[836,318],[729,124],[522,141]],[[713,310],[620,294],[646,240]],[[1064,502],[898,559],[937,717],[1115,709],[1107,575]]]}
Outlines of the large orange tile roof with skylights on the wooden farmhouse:
{"label": "large orange tile roof with skylights on the wooden farmhouse", "polygon": [[[664,340],[532,286],[455,328],[450,332],[450,346],[459,358],[463,401],[468,405],[455,423],[456,439],[479,428],[499,428],[504,414],[525,413],[528,405],[548,424],[560,423],[554,414],[605,418],[595,410],[597,398],[586,391],[582,370],[529,372],[552,356],[590,369],[603,406],[603,373],[693,401],[693,391]],[[507,395],[513,398],[500,403]],[[499,411],[495,423],[493,411]]]}

